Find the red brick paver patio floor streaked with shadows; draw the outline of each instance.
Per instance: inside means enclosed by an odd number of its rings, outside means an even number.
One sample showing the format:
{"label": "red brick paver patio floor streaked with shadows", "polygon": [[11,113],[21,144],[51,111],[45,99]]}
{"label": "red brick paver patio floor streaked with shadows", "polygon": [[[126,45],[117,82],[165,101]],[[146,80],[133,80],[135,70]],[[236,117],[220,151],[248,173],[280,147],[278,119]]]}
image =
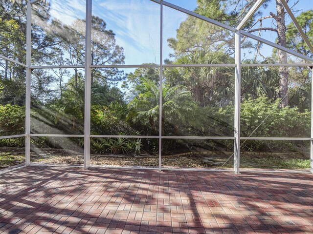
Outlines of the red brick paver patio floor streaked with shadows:
{"label": "red brick paver patio floor streaked with shadows", "polygon": [[0,233],[313,234],[313,175],[26,167],[0,176]]}

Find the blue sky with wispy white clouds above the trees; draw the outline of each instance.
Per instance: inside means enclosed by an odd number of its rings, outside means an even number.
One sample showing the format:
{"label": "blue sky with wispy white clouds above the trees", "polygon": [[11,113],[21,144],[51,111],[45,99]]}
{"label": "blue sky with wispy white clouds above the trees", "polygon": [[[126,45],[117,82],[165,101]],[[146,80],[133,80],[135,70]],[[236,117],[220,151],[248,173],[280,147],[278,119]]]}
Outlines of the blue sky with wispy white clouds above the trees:
{"label": "blue sky with wispy white clouds above the trees", "polygon": [[[193,10],[197,6],[196,0],[168,1],[188,10]],[[290,5],[293,1],[290,0]],[[308,4],[310,1],[300,0],[295,9],[310,9],[310,4]],[[126,64],[159,63],[160,18],[157,3],[150,0],[93,0],[92,4],[92,14],[107,22],[107,28],[112,29],[116,34],[116,43],[124,48]],[[51,6],[52,16],[66,24],[71,24],[77,18],[85,18],[84,0],[53,0]],[[268,15],[269,11],[275,12],[274,7],[275,0],[271,0],[267,9],[261,8],[264,12],[263,16]],[[166,39],[176,37],[176,30],[186,17],[187,15],[183,13],[164,7],[163,59],[166,59],[172,52],[167,46]],[[291,20],[288,18],[287,21]],[[270,26],[270,22],[271,20],[265,21],[264,26]],[[276,39],[276,35],[272,32],[263,33],[262,37],[270,41]],[[271,48],[264,46],[262,52],[268,56]]]}

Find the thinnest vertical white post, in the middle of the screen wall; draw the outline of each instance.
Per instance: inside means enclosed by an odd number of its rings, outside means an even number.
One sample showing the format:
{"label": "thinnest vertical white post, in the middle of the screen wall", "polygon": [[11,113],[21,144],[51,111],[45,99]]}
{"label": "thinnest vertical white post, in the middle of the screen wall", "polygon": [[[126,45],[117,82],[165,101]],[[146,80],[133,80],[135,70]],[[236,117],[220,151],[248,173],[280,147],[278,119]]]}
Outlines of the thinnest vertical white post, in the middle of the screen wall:
{"label": "thinnest vertical white post, in the middle of the screen wall", "polygon": [[158,171],[162,167],[162,93],[163,93],[163,0],[160,1],[160,93],[159,93],[159,128],[158,128]]}

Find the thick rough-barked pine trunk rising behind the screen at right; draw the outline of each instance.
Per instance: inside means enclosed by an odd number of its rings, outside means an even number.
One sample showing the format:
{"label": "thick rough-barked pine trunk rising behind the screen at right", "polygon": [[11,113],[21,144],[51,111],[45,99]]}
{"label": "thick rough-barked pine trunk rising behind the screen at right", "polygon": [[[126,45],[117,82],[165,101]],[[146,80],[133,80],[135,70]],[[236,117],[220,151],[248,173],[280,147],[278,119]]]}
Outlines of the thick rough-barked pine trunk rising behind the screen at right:
{"label": "thick rough-barked pine trunk rising behind the screen at right", "polygon": [[[278,44],[286,47],[286,22],[285,22],[285,8],[280,0],[276,0],[276,22]],[[278,50],[278,59],[280,63],[287,63],[287,53]],[[288,106],[288,69],[287,67],[279,67],[279,97],[282,98],[280,107]]]}

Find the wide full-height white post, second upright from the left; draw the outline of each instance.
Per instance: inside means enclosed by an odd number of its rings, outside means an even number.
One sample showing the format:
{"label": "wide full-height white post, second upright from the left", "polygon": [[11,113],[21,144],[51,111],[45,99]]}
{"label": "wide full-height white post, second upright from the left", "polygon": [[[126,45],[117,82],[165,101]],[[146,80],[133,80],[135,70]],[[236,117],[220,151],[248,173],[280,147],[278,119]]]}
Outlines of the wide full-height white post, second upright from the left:
{"label": "wide full-height white post, second upright from the left", "polygon": [[85,60],[85,124],[84,169],[90,166],[90,105],[91,105],[91,10],[92,0],[86,0],[86,60]]}

